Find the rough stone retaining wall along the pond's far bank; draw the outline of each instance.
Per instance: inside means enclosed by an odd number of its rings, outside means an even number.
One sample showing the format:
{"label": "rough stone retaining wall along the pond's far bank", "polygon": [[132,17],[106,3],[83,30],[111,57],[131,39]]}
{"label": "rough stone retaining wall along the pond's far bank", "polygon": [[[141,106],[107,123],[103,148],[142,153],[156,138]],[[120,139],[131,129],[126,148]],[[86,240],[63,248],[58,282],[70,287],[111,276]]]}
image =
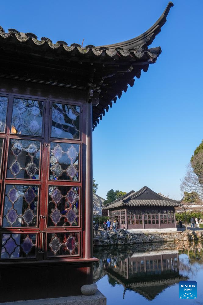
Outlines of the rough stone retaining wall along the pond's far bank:
{"label": "rough stone retaining wall along the pond's far bank", "polygon": [[201,231],[176,231],[168,233],[130,233],[120,229],[118,232],[100,231],[100,236],[94,241],[96,246],[105,245],[133,245],[150,242],[179,242],[189,241],[203,238],[203,230]]}

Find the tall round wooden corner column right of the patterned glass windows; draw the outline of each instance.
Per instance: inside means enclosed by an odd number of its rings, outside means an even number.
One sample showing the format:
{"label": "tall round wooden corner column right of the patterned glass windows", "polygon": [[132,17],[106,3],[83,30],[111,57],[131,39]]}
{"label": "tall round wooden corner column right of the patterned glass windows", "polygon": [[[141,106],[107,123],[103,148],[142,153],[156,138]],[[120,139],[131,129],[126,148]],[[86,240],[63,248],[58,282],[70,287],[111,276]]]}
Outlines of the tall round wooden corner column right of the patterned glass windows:
{"label": "tall round wooden corner column right of the patterned glass windows", "polygon": [[[90,100],[91,101],[91,100]],[[86,104],[85,258],[93,257],[92,102]]]}

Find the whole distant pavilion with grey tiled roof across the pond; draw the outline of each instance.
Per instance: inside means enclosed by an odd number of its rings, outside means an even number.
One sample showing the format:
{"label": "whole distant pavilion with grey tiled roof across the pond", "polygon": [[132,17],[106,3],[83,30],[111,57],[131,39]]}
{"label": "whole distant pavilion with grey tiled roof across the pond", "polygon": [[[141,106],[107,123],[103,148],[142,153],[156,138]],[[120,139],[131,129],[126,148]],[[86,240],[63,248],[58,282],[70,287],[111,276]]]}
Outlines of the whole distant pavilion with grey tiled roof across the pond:
{"label": "whole distant pavilion with grey tiled roof across the pond", "polygon": [[180,201],[169,199],[143,187],[130,191],[105,206],[111,221],[117,220],[121,229],[146,231],[176,231],[175,207]]}

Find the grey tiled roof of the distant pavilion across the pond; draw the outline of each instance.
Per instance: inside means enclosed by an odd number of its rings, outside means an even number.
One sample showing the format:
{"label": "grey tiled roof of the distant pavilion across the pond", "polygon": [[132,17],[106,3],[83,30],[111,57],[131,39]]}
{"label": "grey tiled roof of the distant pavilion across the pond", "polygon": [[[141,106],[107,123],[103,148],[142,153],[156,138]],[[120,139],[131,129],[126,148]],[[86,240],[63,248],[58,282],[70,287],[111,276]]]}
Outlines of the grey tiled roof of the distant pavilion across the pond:
{"label": "grey tiled roof of the distant pavilion across the pond", "polygon": [[130,191],[123,197],[107,204],[103,209],[114,209],[126,206],[182,206],[181,200],[169,199],[152,191],[149,187],[142,187],[139,191]]}

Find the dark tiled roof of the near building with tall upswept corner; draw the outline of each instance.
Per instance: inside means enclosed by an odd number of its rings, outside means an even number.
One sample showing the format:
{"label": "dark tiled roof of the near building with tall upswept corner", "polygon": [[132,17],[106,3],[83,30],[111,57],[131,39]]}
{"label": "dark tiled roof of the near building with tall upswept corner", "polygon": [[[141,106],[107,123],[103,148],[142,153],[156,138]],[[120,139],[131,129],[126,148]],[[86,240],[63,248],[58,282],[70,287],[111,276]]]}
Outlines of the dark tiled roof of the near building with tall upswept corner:
{"label": "dark tiled roof of the near building with tall upswept corner", "polygon": [[93,107],[94,129],[112,102],[116,103],[128,85],[134,85],[134,77],[140,78],[141,71],[146,72],[149,64],[156,62],[161,48],[148,46],[161,31],[172,6],[169,2],[161,17],[143,34],[104,46],[68,46],[64,41],[53,43],[46,37],[38,40],[33,33],[15,29],[5,33],[0,27],[0,76],[82,89],[88,83],[94,84],[101,91],[99,104]]}

